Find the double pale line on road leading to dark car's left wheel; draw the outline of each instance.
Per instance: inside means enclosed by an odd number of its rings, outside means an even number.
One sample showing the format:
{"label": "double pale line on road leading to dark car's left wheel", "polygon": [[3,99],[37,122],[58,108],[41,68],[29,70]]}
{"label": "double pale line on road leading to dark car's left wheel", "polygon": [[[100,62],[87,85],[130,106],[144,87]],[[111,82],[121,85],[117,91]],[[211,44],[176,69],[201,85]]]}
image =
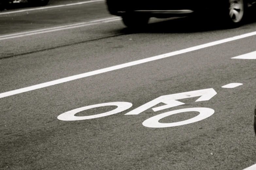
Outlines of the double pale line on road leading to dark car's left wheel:
{"label": "double pale line on road leading to dark car's left wheel", "polygon": [[118,21],[118,20],[121,20],[121,17],[111,17],[111,18],[106,18],[106,19],[101,19],[101,20],[80,22],[80,23],[76,23],[76,24],[64,25],[64,26],[53,27],[53,28],[45,28],[45,29],[40,29],[40,30],[35,30],[35,31],[27,31],[27,32],[16,33],[16,34],[2,35],[2,36],[0,36],[0,40],[17,38],[17,37],[28,36],[28,35],[49,33],[49,32],[54,32],[54,31],[84,27],[84,26],[88,26],[88,25],[95,25],[95,24]]}

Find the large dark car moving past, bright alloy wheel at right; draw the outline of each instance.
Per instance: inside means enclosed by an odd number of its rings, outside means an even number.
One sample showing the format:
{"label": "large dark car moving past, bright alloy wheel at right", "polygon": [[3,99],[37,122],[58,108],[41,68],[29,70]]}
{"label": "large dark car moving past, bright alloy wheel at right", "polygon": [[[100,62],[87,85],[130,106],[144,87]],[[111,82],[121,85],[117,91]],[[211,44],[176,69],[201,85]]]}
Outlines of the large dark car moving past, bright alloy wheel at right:
{"label": "large dark car moving past, bright alloy wheel at right", "polygon": [[230,27],[237,27],[244,20],[247,8],[256,0],[107,0],[109,12],[121,16],[128,27],[140,27],[150,17],[170,18],[204,15],[217,18]]}

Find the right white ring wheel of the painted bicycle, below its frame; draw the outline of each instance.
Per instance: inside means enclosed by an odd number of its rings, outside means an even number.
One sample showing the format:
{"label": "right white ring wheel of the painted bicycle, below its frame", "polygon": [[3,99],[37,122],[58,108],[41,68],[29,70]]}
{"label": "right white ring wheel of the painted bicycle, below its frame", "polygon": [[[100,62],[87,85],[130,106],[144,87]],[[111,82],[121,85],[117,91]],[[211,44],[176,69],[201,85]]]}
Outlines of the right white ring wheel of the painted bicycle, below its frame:
{"label": "right white ring wheel of the painted bicycle, below its frame", "polygon": [[[177,113],[182,113],[182,112],[199,112],[199,115],[197,115],[194,118],[184,120],[184,121],[179,121],[179,122],[174,122],[174,123],[159,123],[159,120],[162,118],[165,118],[170,115],[174,115]],[[203,119],[206,119],[213,115],[214,110],[211,108],[206,108],[206,107],[194,107],[194,108],[185,108],[185,109],[179,109],[179,110],[174,110],[166,113],[162,113],[156,116],[153,116],[147,120],[145,120],[142,124],[143,126],[150,127],[150,128],[165,128],[165,127],[173,127],[173,126],[180,126],[180,125],[185,125],[189,123],[194,123]]]}

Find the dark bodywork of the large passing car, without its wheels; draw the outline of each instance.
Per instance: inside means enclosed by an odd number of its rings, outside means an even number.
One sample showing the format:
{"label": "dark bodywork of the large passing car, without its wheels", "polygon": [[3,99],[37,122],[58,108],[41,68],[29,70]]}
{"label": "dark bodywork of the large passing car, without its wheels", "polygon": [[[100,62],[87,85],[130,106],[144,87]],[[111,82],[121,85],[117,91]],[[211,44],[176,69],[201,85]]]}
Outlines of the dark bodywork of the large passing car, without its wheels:
{"label": "dark bodywork of the large passing car, without its wheels", "polygon": [[111,14],[123,16],[126,13],[143,13],[151,17],[173,17],[173,16],[187,16],[192,12],[207,8],[209,1],[203,3],[203,0],[198,1],[174,1],[174,0],[107,0],[108,9]]}

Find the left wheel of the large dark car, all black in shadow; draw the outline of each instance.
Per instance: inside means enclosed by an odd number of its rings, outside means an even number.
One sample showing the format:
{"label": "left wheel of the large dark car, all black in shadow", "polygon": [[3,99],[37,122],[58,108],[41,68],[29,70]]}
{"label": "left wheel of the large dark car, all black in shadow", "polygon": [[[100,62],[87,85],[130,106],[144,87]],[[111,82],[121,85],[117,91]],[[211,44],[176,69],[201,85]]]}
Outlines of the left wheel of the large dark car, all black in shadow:
{"label": "left wheel of the large dark car, all black in shadow", "polygon": [[147,25],[149,17],[146,16],[133,16],[124,15],[122,16],[123,23],[129,28],[140,29]]}

